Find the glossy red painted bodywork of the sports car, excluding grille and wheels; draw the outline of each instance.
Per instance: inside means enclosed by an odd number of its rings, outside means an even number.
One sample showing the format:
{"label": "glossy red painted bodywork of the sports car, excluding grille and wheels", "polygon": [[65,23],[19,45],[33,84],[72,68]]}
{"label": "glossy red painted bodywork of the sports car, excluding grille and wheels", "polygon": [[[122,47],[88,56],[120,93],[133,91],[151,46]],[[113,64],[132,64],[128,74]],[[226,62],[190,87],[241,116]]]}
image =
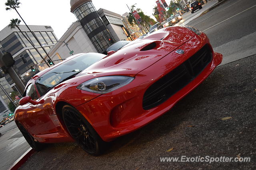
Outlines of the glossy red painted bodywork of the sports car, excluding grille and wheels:
{"label": "glossy red painted bodywork of the sports car, excluding grille and wheels", "polygon": [[[206,68],[164,103],[144,110],[142,99],[148,87],[186,61],[204,45],[209,45],[213,55],[212,61]],[[183,49],[185,53],[179,55],[175,53],[176,49]],[[109,54],[76,77],[58,84],[44,96],[38,93],[40,96],[38,103],[27,103],[16,109],[15,121],[20,122],[36,141],[42,143],[74,141],[57,109],[60,102],[65,102],[80,111],[104,141],[112,141],[166,113],[205,80],[221,61],[222,55],[213,52],[209,39],[204,33],[196,35],[185,27],[166,27]],[[64,62],[66,61],[62,63]],[[38,77],[52,68],[38,73],[28,84],[34,84]],[[106,94],[96,94],[76,88],[92,78],[110,75],[135,78],[130,84]],[[44,102],[40,103],[40,101]]]}

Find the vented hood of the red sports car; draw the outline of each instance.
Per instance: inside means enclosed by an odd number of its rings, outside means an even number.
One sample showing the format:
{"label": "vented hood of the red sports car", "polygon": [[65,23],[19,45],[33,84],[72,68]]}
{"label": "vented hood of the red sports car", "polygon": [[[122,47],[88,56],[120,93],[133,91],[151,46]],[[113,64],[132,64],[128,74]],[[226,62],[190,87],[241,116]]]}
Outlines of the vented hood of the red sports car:
{"label": "vented hood of the red sports car", "polygon": [[107,55],[86,68],[80,75],[102,72],[138,74],[186,43],[194,35],[194,32],[185,27],[160,29],[136,43],[131,42],[115,53]]}

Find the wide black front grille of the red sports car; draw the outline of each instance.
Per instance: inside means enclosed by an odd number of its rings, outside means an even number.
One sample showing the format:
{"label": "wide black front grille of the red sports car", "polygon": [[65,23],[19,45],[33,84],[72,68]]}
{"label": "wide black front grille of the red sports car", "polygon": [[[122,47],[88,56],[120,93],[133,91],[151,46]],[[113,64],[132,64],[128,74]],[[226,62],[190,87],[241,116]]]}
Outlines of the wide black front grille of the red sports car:
{"label": "wide black front grille of the red sports car", "polygon": [[152,109],[189,84],[212,61],[212,51],[205,45],[184,63],[154,82],[143,96],[142,107]]}

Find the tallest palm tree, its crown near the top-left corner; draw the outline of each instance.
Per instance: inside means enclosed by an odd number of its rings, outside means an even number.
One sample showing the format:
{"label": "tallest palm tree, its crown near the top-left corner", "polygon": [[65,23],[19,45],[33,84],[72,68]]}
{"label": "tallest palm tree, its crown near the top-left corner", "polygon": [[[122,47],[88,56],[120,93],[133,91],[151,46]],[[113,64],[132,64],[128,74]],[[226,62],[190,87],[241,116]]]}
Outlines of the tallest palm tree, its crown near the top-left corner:
{"label": "tallest palm tree, its crown near the top-left corner", "polygon": [[[20,8],[21,3],[19,2],[19,0],[7,0],[7,2],[5,3],[6,7],[5,9],[8,10],[15,10],[17,12],[17,14],[20,16],[20,13],[18,12],[17,8]],[[28,30],[32,33],[32,35],[35,37],[36,41],[39,43],[39,45],[41,46],[41,48],[44,50],[44,53],[46,53],[47,57],[50,59],[50,61],[52,61],[52,59],[50,58],[50,56],[48,55],[48,53],[46,52],[46,50],[44,49],[44,47],[41,45],[40,41],[38,40],[38,38],[36,37],[36,35],[34,35],[34,33],[31,31],[31,29],[28,27],[28,25],[26,24],[26,22],[23,20],[23,18],[20,16],[20,18],[22,19],[22,21],[25,23],[26,27],[28,28]],[[46,64],[48,65],[48,63],[46,62]],[[49,65],[48,65],[49,66]],[[49,66],[50,67],[50,66]]]}

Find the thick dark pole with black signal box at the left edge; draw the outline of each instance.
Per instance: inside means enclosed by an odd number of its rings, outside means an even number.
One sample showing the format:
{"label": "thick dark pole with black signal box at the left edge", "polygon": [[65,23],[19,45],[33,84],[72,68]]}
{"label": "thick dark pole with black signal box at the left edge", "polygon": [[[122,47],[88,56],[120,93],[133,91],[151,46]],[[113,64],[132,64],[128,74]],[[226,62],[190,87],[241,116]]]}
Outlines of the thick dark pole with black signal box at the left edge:
{"label": "thick dark pole with black signal box at the left edge", "polygon": [[0,67],[1,68],[6,67],[5,71],[8,72],[8,74],[10,75],[10,77],[12,78],[14,83],[16,84],[19,92],[22,94],[25,90],[25,86],[24,86],[23,82],[20,80],[18,74],[14,71],[14,69],[12,67],[14,63],[12,64],[12,66],[6,66],[6,64],[3,62],[3,57],[4,57],[4,55],[3,55],[2,51],[0,51]]}

